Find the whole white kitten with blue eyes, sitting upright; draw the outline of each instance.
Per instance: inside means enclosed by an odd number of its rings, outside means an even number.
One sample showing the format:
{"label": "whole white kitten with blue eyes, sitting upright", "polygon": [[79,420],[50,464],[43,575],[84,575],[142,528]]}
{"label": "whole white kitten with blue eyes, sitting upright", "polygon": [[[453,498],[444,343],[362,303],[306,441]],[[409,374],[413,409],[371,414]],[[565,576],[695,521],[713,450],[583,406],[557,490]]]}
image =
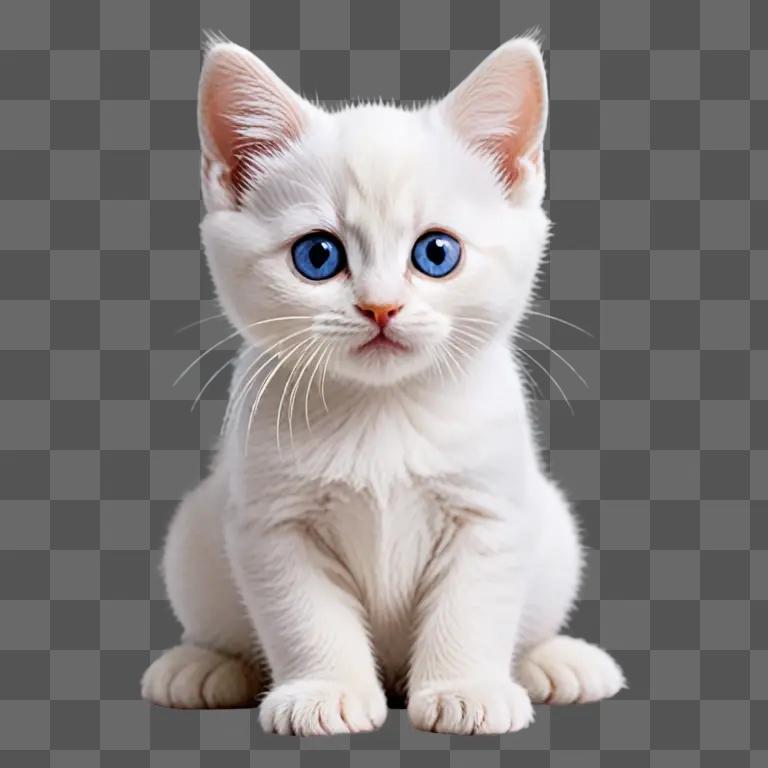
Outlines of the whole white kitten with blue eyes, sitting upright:
{"label": "whole white kitten with blue eyes, sitting upright", "polygon": [[231,43],[199,94],[202,235],[244,346],[164,575],[143,694],[266,730],[502,733],[624,684],[558,636],[582,565],[509,338],[545,248],[547,95],[512,40],[441,101],[329,113]]}

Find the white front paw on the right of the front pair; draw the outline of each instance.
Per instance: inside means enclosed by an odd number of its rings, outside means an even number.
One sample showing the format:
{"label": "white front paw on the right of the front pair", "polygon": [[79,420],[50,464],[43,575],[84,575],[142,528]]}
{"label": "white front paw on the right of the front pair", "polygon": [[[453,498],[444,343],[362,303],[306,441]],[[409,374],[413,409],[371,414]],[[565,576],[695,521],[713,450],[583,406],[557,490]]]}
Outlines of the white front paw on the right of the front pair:
{"label": "white front paw on the right of the front pair", "polygon": [[509,733],[531,723],[533,706],[525,689],[511,680],[456,680],[414,691],[408,715],[422,731]]}

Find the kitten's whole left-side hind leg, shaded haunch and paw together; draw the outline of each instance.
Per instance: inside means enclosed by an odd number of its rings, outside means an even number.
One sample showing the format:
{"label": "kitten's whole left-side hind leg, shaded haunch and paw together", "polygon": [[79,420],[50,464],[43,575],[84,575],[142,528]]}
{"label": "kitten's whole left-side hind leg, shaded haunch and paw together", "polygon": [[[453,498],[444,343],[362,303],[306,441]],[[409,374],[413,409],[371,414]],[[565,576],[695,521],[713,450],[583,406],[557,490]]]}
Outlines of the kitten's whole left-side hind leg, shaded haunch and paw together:
{"label": "kitten's whole left-side hind leg, shaded haunch and paw together", "polygon": [[171,523],[162,571],[182,645],[144,673],[142,696],[186,709],[253,705],[262,689],[257,641],[231,577],[224,547],[223,478],[186,496]]}

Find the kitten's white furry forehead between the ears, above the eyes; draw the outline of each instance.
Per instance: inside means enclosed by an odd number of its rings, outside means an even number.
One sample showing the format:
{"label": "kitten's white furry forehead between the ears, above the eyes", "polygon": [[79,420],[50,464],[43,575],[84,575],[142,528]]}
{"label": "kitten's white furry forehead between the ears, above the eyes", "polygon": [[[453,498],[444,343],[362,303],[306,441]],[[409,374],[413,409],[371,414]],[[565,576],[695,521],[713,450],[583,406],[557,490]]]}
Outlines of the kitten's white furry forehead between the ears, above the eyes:
{"label": "kitten's white furry forehead between the ears, above the eyes", "polygon": [[279,222],[280,237],[338,231],[367,267],[394,253],[405,259],[430,228],[481,238],[506,209],[491,165],[437,113],[385,105],[325,113],[293,152],[274,158],[249,204],[257,219]]}

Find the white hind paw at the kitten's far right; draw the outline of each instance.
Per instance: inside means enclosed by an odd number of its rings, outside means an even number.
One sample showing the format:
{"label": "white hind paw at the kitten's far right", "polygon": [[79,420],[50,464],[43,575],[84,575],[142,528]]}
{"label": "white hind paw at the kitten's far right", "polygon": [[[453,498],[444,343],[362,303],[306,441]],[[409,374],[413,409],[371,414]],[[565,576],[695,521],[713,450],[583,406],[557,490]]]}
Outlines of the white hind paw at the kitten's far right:
{"label": "white hind paw at the kitten's far right", "polygon": [[619,665],[602,648],[559,635],[530,650],[517,679],[536,704],[573,704],[615,696],[625,687]]}

